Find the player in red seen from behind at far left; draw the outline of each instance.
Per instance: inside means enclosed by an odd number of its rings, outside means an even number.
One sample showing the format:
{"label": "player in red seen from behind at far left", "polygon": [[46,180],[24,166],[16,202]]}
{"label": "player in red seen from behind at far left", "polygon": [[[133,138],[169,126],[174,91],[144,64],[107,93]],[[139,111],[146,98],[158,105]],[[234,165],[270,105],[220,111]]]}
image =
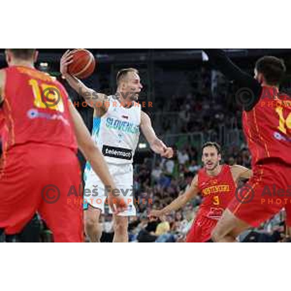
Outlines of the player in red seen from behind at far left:
{"label": "player in red seen from behind at far left", "polygon": [[[0,229],[18,234],[38,212],[55,242],[82,242],[77,143],[104,183],[111,189],[114,183],[65,88],[34,69],[36,58],[35,49],[7,49],[8,67],[0,70]],[[111,193],[108,198],[113,206]]]}

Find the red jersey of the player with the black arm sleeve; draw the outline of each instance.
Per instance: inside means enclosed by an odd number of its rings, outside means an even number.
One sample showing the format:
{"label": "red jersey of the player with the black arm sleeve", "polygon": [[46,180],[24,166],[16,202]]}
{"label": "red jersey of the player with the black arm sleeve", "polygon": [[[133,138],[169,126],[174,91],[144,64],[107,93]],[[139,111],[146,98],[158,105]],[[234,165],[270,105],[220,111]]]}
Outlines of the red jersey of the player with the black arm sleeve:
{"label": "red jersey of the player with the black arm sleeve", "polygon": [[242,115],[252,166],[268,159],[291,164],[291,97],[263,87],[259,102]]}

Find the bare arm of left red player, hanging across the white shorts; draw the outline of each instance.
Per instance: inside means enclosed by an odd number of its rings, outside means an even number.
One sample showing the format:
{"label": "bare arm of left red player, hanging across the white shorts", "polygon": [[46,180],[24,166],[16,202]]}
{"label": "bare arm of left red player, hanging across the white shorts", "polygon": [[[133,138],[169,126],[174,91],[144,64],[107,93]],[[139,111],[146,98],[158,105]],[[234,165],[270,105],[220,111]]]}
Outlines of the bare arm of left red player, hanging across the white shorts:
{"label": "bare arm of left red player, hanging across the white shorts", "polygon": [[[78,146],[82,154],[84,155],[85,159],[90,162],[94,172],[99,176],[103,184],[110,186],[109,190],[116,189],[115,183],[113,182],[113,178],[109,173],[108,166],[103,158],[102,153],[95,145],[88,129],[86,128],[81,118],[81,115],[78,113],[71,101],[69,101],[69,110],[72,116]],[[122,197],[113,197],[111,191],[109,191],[108,202],[111,208],[113,210],[117,210],[118,212],[123,211],[126,207]],[[114,207],[114,205],[116,207]]]}

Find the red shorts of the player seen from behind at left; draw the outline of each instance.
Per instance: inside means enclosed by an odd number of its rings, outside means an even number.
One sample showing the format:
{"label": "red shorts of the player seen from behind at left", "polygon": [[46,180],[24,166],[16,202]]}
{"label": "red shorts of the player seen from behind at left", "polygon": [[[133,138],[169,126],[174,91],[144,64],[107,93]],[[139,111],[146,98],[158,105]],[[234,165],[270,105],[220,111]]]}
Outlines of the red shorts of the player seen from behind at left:
{"label": "red shorts of the player seen from behind at left", "polygon": [[21,232],[38,212],[55,242],[83,241],[82,205],[67,199],[72,188],[81,188],[74,151],[44,144],[15,146],[4,155],[2,166],[0,228],[6,234]]}

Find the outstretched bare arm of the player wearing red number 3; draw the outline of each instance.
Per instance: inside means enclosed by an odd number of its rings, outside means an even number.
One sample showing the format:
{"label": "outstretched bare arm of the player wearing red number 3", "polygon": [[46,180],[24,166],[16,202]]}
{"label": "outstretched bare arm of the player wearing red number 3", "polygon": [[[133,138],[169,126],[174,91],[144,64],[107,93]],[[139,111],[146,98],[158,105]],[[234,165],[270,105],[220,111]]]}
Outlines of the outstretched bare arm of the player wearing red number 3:
{"label": "outstretched bare arm of the player wearing red number 3", "polygon": [[191,183],[189,189],[182,195],[178,196],[171,204],[162,210],[152,210],[149,214],[151,218],[159,218],[164,215],[170,214],[172,211],[183,208],[189,201],[191,201],[199,193],[198,176],[196,175]]}

